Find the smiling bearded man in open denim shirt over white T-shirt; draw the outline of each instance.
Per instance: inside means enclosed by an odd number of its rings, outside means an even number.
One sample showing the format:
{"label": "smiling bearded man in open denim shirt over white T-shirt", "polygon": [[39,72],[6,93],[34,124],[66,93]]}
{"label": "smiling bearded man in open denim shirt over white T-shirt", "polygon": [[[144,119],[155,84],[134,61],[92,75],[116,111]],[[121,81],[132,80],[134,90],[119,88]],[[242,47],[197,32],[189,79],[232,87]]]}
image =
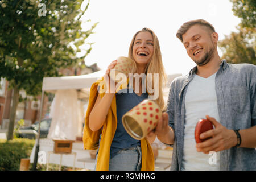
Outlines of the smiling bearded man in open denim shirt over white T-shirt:
{"label": "smiling bearded man in open denim shirt over white T-shirt", "polygon": [[[184,23],[176,36],[197,66],[172,82],[168,114],[155,130],[160,141],[174,144],[171,169],[256,170],[255,65],[221,60],[218,34],[205,20]],[[200,135],[212,138],[196,144],[201,118],[214,129]]]}

